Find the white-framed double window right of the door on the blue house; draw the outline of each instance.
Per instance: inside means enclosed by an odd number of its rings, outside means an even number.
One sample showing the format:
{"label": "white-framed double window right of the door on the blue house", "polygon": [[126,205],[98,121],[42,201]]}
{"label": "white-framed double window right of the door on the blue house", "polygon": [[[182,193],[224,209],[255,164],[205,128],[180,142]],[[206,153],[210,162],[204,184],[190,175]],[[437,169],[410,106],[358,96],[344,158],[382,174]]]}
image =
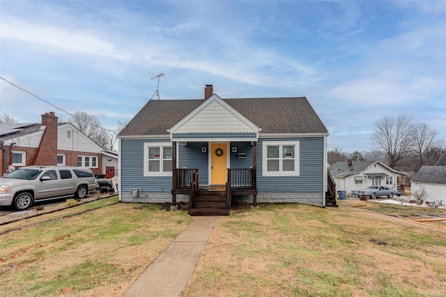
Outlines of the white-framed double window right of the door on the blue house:
{"label": "white-framed double window right of the door on the blue house", "polygon": [[299,176],[299,142],[263,142],[263,176]]}

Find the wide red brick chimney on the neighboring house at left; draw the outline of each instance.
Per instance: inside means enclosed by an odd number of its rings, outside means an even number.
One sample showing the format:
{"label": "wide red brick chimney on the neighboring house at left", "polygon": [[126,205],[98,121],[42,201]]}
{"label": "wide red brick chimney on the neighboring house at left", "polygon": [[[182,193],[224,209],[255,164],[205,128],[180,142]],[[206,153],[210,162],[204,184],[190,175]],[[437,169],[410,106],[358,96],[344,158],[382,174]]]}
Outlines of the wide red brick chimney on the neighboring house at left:
{"label": "wide red brick chimney on the neighboring house at left", "polygon": [[34,165],[57,165],[57,116],[54,112],[42,114],[45,126]]}

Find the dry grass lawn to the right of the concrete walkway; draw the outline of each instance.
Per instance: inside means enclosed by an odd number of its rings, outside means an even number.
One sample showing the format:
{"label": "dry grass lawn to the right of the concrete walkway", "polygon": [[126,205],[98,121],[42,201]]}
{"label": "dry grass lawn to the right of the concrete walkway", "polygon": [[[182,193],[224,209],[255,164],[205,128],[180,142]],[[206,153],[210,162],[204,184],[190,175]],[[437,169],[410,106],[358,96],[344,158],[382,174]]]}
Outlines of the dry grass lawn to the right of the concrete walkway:
{"label": "dry grass lawn to the right of the concrete walkway", "polygon": [[365,204],[231,213],[184,296],[446,296],[446,230],[396,218],[426,208]]}

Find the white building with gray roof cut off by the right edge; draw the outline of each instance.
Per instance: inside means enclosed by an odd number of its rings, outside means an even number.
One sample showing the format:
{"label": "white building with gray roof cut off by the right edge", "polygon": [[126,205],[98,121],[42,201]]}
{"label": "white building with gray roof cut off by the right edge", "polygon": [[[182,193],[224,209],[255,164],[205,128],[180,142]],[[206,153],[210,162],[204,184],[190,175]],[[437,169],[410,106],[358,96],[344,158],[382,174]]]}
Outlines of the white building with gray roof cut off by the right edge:
{"label": "white building with gray roof cut off by the right edge", "polygon": [[443,201],[446,204],[446,154],[434,166],[423,166],[410,180],[410,191],[424,190],[424,201]]}

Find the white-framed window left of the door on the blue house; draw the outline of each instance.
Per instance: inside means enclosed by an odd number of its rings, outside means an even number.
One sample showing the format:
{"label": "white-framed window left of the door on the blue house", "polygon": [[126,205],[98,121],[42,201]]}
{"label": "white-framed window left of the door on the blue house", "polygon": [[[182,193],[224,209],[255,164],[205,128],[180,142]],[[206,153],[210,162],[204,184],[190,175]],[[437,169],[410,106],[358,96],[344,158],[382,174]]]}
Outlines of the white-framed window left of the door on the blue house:
{"label": "white-framed window left of the door on the blue house", "polygon": [[172,175],[172,144],[170,142],[144,143],[144,176]]}

